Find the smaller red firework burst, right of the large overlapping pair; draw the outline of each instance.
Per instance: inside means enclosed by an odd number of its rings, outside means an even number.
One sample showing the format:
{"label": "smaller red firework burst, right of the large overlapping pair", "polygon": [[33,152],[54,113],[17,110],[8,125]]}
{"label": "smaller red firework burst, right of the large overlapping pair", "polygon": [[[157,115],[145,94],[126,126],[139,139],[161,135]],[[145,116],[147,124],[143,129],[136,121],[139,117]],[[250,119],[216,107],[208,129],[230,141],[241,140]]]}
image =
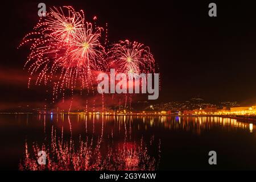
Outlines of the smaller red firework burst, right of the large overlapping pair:
{"label": "smaller red firework burst, right of the large overlapping pair", "polygon": [[129,40],[119,41],[113,44],[107,54],[110,64],[117,64],[117,71],[126,73],[129,77],[155,72],[154,57],[144,44]]}

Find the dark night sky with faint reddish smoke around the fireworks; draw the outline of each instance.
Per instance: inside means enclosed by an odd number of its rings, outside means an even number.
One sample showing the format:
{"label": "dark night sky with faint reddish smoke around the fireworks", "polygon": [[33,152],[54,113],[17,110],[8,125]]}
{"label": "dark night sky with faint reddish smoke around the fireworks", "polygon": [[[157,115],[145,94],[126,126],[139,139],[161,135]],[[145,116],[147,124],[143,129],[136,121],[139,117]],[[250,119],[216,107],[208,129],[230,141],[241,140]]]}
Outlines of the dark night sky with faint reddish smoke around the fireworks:
{"label": "dark night sky with faint reddish smoke around the fireworks", "polygon": [[[253,1],[8,1],[2,6],[2,104],[44,100],[44,88],[27,89],[27,48],[16,49],[38,21],[38,3],[71,5],[109,25],[109,40],[151,48],[161,73],[158,102],[256,101],[256,10]],[[210,2],[217,17],[208,16]]]}

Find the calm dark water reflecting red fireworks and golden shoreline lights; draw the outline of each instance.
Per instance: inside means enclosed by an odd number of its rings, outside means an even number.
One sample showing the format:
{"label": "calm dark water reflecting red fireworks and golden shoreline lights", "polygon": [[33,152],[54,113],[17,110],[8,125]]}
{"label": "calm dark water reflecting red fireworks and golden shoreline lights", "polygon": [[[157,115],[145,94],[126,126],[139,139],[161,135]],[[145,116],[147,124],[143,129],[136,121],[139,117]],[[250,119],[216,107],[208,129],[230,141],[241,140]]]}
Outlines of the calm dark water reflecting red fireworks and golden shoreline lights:
{"label": "calm dark water reflecting red fireworks and golden shoreline lights", "polygon": [[[0,168],[256,169],[256,127],[220,117],[0,114]],[[46,151],[39,166],[37,152]],[[208,152],[217,152],[217,165]]]}

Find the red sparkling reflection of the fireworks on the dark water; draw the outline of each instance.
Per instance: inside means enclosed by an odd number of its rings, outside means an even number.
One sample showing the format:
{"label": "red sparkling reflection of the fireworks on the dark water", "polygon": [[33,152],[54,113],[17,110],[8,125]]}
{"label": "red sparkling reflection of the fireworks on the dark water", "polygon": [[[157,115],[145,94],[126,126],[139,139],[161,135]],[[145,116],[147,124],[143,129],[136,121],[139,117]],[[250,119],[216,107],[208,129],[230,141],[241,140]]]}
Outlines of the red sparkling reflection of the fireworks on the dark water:
{"label": "red sparkling reflection of the fireworks on the dark water", "polygon": [[[86,118],[87,119],[87,118]],[[126,120],[127,119],[127,120]],[[78,142],[74,139],[72,132],[72,122],[68,117],[69,139],[63,137],[65,131],[63,126],[61,132],[52,125],[51,139],[44,139],[42,145],[37,142],[31,146],[26,141],[24,158],[20,161],[20,170],[156,170],[160,162],[160,140],[156,140],[154,135],[148,142],[141,137],[140,140],[132,140],[131,121],[129,118],[121,119],[123,139],[114,140],[113,129],[110,134],[106,133],[104,118],[102,118],[101,131],[94,133],[94,120],[92,123],[85,122],[86,130],[84,134],[79,134]],[[126,120],[126,121],[125,121]],[[99,121],[100,122],[100,121]],[[87,127],[93,125],[93,135],[87,133]],[[48,136],[46,135],[46,138]],[[46,165],[39,165],[38,152],[46,151]],[[31,151],[31,152],[29,152]],[[154,151],[154,152],[152,152]],[[155,154],[155,151],[156,154]],[[154,154],[153,154],[154,153]]]}

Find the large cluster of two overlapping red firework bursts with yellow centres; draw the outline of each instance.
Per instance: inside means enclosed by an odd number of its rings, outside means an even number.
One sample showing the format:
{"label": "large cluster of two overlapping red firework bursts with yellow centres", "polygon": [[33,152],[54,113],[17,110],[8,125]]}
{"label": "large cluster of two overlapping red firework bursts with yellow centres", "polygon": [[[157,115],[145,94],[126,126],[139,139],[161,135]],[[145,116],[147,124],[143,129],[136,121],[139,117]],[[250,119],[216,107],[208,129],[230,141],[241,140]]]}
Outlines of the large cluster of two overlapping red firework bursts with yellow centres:
{"label": "large cluster of two overlapping red firework bursts with yellow centres", "polygon": [[29,81],[36,74],[36,85],[54,81],[53,96],[59,91],[64,94],[65,88],[89,89],[92,70],[99,71],[104,62],[102,31],[103,28],[85,22],[83,11],[76,12],[71,6],[53,7],[20,44],[31,43],[25,64]]}

